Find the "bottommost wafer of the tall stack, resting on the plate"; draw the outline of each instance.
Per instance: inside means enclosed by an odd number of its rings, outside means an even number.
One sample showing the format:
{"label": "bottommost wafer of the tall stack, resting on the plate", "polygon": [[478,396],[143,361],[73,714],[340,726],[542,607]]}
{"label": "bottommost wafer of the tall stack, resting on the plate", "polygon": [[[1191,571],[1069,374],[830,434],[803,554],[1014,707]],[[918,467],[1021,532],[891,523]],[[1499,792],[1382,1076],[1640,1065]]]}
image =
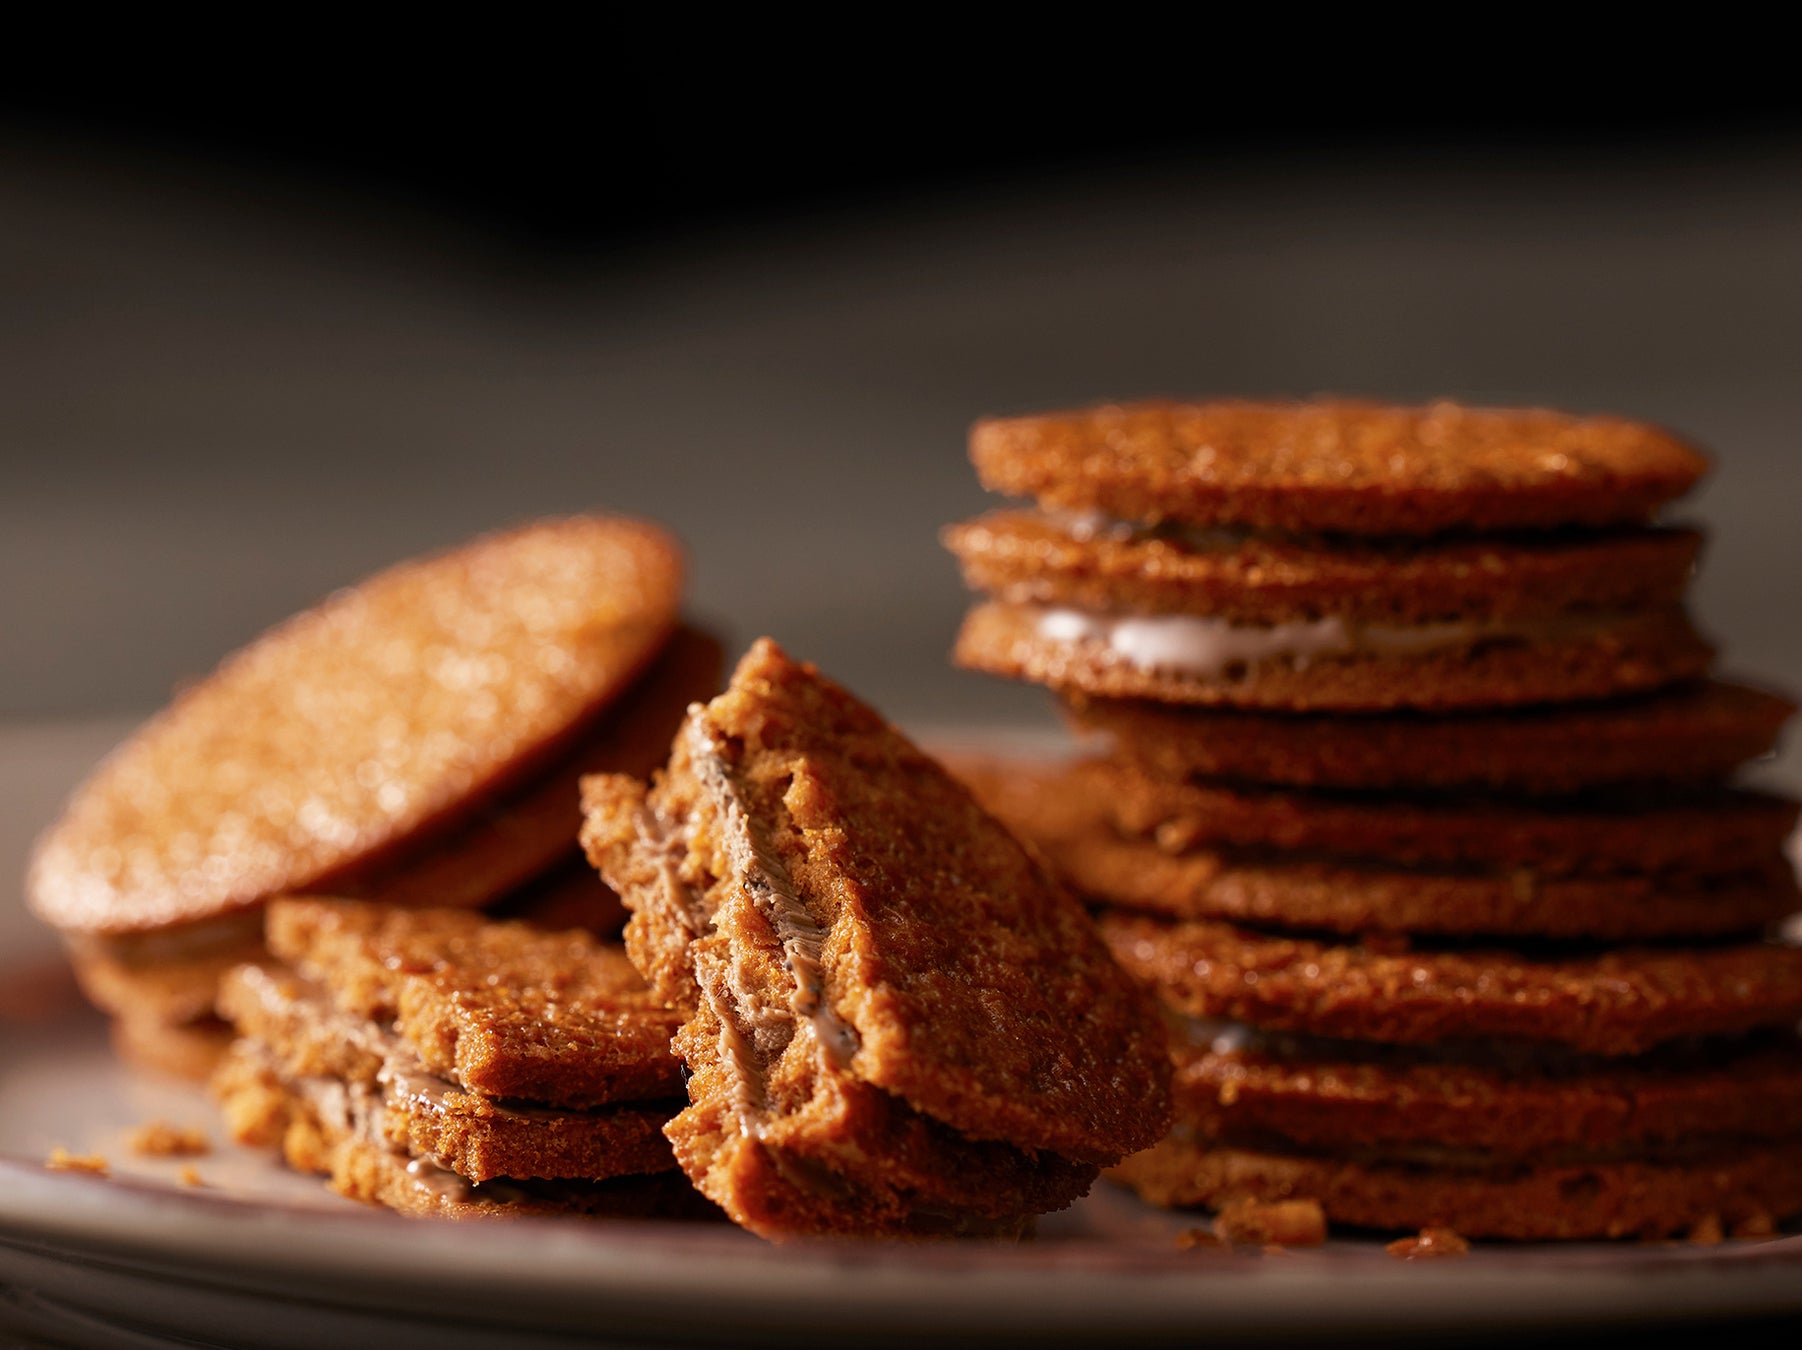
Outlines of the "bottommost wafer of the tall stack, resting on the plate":
{"label": "bottommost wafer of the tall stack, resting on the plate", "polygon": [[1160,1206],[1317,1200],[1335,1224],[1451,1227],[1472,1238],[1661,1238],[1802,1209],[1802,1143],[1685,1163],[1561,1163],[1433,1170],[1166,1139],[1110,1172]]}

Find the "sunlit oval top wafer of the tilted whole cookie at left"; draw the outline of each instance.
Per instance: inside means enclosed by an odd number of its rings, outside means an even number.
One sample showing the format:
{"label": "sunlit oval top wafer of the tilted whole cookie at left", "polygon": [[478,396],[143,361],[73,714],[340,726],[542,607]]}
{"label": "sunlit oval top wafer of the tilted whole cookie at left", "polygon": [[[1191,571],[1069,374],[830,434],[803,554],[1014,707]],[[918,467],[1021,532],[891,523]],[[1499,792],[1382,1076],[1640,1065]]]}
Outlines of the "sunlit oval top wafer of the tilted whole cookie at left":
{"label": "sunlit oval top wafer of the tilted whole cookie at left", "polygon": [[231,656],[40,842],[32,907],[130,932],[330,887],[555,755],[676,625],[676,544],[571,517],[407,562]]}

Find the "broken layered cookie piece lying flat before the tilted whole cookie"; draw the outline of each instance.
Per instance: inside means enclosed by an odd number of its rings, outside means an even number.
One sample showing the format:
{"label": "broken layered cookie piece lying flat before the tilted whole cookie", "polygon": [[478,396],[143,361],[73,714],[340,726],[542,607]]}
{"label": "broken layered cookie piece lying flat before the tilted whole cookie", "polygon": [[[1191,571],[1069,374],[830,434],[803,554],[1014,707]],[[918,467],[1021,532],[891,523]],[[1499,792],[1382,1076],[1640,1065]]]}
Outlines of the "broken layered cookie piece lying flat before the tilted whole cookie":
{"label": "broken layered cookie piece lying flat before the tilted whole cookie", "polygon": [[678,1018],[616,944],[463,910],[281,899],[222,986],[236,1139],[411,1215],[687,1217]]}

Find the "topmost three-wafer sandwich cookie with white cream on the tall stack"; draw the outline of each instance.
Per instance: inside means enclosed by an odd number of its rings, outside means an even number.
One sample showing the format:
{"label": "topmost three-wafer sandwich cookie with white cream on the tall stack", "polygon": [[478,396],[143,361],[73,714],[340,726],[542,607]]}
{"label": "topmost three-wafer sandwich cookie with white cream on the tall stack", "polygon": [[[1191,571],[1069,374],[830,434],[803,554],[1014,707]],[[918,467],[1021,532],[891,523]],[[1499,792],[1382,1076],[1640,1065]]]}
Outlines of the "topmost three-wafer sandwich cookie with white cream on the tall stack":
{"label": "topmost three-wafer sandwich cookie with white cream on the tall stack", "polygon": [[1072,696],[1429,712],[1697,678],[1699,535],[1643,521],[1705,469],[1606,418],[1195,404],[978,424],[1038,497],[946,543],[991,598],[957,660]]}

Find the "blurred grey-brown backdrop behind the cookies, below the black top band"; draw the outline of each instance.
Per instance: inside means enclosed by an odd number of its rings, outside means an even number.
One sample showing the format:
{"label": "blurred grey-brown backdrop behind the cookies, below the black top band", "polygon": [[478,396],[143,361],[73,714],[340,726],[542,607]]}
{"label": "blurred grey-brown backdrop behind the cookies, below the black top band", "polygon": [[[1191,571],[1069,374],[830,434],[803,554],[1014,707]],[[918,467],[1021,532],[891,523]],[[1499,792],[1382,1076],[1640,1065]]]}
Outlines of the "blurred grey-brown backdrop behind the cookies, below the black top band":
{"label": "blurred grey-brown backdrop behind the cookies, below the black top band", "polygon": [[454,222],[0,142],[0,719],[157,707],[420,550],[595,506],[910,723],[984,413],[1151,393],[1606,409],[1710,445],[1696,600],[1802,685],[1802,144],[1150,168],[546,267]]}

